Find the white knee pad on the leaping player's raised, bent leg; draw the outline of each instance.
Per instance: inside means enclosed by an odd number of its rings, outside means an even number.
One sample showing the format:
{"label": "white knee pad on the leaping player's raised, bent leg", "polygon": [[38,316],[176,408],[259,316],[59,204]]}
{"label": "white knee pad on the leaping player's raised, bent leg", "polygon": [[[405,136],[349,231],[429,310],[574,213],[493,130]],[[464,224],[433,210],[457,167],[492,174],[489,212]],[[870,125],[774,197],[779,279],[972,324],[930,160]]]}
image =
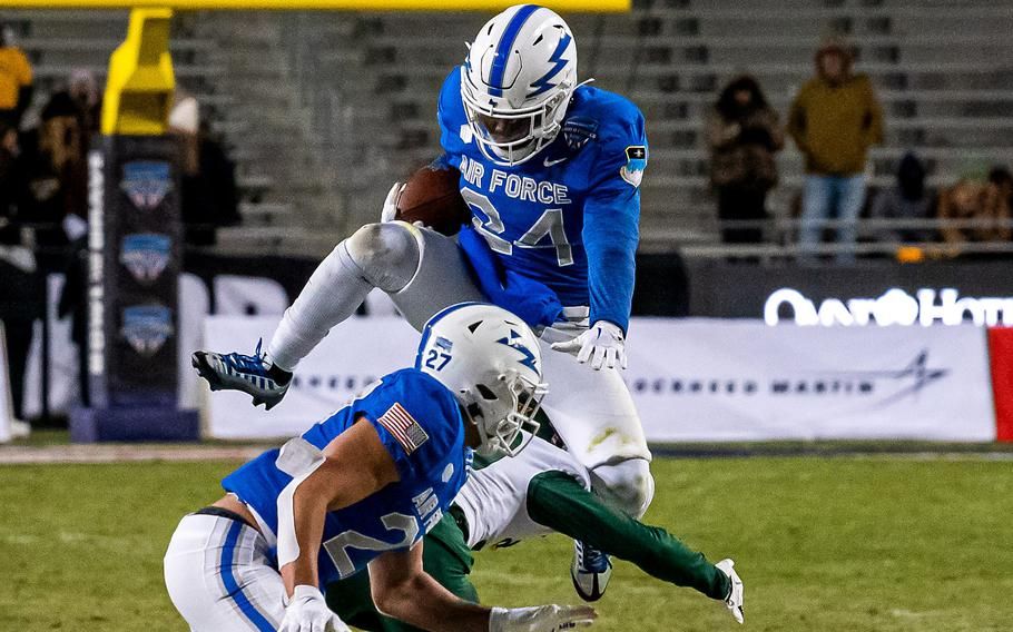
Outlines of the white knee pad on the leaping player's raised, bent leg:
{"label": "white knee pad on the leaping player's raised, bent leg", "polygon": [[401,221],[366,224],[344,244],[363,278],[386,293],[404,288],[419,269],[421,248]]}

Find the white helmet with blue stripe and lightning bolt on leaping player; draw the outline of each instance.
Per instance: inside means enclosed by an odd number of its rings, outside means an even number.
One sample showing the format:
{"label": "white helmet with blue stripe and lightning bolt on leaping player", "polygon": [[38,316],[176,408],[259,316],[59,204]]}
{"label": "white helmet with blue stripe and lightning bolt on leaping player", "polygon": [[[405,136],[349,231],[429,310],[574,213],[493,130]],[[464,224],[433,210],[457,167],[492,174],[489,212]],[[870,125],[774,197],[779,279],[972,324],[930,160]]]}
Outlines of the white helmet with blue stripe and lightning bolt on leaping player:
{"label": "white helmet with blue stripe and lightning bolt on leaping player", "polygon": [[577,43],[562,18],[518,4],[469,46],[461,99],[475,141],[493,162],[530,160],[559,134],[577,88]]}

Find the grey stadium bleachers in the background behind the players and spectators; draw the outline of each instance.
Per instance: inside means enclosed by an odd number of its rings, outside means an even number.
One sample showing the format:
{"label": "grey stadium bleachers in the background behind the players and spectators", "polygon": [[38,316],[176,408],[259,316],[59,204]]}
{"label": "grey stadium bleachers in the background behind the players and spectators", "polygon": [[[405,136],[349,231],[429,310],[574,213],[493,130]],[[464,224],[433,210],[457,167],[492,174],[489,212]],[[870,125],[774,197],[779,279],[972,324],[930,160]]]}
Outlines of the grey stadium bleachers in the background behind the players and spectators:
{"label": "grey stadium bleachers in the background behind the players and spectators", "polygon": [[[629,14],[567,18],[581,76],[630,96],[647,115],[646,249],[718,240],[701,138],[716,91],[748,71],[784,115],[829,32],[856,46],[857,69],[872,76],[884,106],[886,142],[872,151],[874,186],[892,181],[907,149],[926,160],[932,185],[971,165],[1010,161],[1013,13],[1002,0],[640,0],[635,7]],[[0,13],[11,17],[23,26],[43,85],[72,67],[104,70],[126,23],[121,12]],[[208,107],[240,164],[248,221],[224,231],[223,248],[323,254],[372,220],[390,182],[439,152],[436,92],[488,17],[178,19],[179,81]],[[800,156],[788,145],[770,201],[781,217],[801,180]]]}

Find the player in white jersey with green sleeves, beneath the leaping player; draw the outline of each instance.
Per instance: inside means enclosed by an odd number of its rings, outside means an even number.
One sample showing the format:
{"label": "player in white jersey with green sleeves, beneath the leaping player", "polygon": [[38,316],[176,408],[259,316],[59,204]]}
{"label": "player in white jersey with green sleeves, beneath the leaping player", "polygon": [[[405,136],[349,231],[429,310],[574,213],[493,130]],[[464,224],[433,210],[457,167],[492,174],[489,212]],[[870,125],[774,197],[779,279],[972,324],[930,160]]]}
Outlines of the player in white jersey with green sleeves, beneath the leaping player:
{"label": "player in white jersey with green sleeves, beneath the leaping player", "polygon": [[[534,438],[514,458],[469,474],[448,514],[425,536],[423,567],[455,595],[478,602],[469,580],[471,551],[558,532],[632,562],[659,580],[721,600],[742,622],[742,582],[731,560],[711,564],[666,530],[609,508],[589,488],[588,470],[570,453]],[[364,574],[331,584],[327,605],[363,630],[412,630],[376,611]]]}

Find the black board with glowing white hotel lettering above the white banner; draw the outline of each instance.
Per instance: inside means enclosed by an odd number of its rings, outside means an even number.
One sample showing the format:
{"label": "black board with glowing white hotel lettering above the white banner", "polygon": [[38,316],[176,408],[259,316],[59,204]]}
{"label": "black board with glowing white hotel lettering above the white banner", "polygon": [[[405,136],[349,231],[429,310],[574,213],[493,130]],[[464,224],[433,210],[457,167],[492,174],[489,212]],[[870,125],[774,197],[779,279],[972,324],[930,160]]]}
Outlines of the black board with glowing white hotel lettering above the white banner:
{"label": "black board with glowing white hotel lettering above the white banner", "polygon": [[[898,266],[887,259],[869,259],[813,267],[692,259],[687,266],[692,316],[763,318],[766,314],[769,319],[771,310],[780,310],[781,322],[810,325],[1013,323],[1009,303],[1013,300],[1013,277],[1010,264],[1003,260]],[[637,284],[658,287],[661,279],[680,271],[656,264],[645,273],[653,278],[638,275]]]}

